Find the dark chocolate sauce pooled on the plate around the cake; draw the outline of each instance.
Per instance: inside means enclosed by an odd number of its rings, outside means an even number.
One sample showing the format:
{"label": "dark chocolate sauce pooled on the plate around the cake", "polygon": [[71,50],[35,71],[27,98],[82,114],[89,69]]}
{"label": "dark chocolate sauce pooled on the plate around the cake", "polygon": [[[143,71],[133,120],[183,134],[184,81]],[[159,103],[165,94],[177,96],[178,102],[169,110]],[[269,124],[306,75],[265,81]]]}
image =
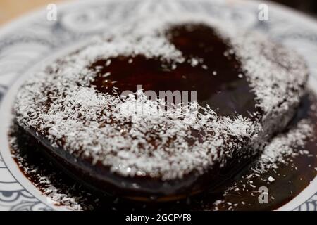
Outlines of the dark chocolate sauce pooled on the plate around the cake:
{"label": "dark chocolate sauce pooled on the plate around the cake", "polygon": [[[309,118],[314,124],[314,136],[317,136],[316,102],[316,96],[306,96],[289,127],[304,118]],[[311,107],[311,105],[314,105],[314,107]],[[288,128],[285,132],[287,130]],[[70,179],[68,174],[61,171],[60,167],[56,167],[48,158],[43,157],[42,154],[45,150],[42,148],[45,147],[33,136],[25,133],[18,125],[13,126],[10,136],[16,139],[16,145],[11,146],[12,153],[25,176],[42,191],[47,186],[55,186],[60,193],[68,193],[68,196],[78,198],[83,210],[275,210],[292,200],[317,175],[317,141],[313,138],[306,140],[304,148],[297,148],[297,150],[308,150],[310,155],[297,155],[292,158],[292,163],[288,165],[280,164],[278,168],[269,169],[261,176],[252,179],[252,185],[255,188],[249,185],[249,179],[245,177],[245,174],[249,174],[251,169],[257,165],[258,162],[256,160],[251,165],[240,169],[225,184],[217,188],[211,188],[186,200],[169,203],[158,203],[155,201],[141,203],[120,198],[117,195],[109,196],[94,192],[82,186],[76,180]],[[30,169],[27,171],[25,170],[26,167]],[[32,171],[35,168],[37,169],[36,172],[30,172],[30,170]],[[51,177],[51,184],[41,183],[40,177],[42,176]],[[268,176],[273,176],[275,181],[269,183],[267,181]],[[239,191],[231,190],[223,196],[224,191],[235,183]],[[259,186],[268,188],[268,204],[259,204],[259,193],[251,194]],[[223,200],[224,203],[220,203],[216,207],[214,204],[216,200]]]}

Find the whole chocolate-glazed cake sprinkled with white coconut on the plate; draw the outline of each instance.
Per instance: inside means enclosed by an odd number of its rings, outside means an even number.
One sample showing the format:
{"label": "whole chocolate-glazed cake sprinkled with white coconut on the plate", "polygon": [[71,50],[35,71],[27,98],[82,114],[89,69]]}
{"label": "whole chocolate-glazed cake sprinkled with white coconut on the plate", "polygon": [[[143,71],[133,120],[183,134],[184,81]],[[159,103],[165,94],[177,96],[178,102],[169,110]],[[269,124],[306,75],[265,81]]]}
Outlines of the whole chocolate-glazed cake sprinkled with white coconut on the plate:
{"label": "whole chocolate-glazed cake sprinkled with white coconut on the plate", "polygon": [[[307,76],[297,53],[261,34],[175,15],[131,22],[59,58],[23,84],[14,113],[88,186],[173,200],[260,153],[294,116]],[[197,101],[147,91],[197,91]]]}

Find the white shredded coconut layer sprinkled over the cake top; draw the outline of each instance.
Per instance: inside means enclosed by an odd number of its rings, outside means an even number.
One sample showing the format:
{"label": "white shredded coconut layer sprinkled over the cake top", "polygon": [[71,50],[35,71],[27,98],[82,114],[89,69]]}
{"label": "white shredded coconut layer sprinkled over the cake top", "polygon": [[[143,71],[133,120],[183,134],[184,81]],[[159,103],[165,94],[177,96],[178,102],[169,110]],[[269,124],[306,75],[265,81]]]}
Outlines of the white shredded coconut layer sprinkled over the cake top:
{"label": "white shredded coconut layer sprinkled over the cake top", "polygon": [[[94,89],[96,71],[89,65],[96,60],[108,59],[107,66],[111,58],[142,55],[160,58],[172,68],[184,63],[182,52],[163,35],[170,25],[182,23],[209,25],[232,46],[224,54],[234,52],[240,58],[261,109],[261,115],[254,115],[257,120],[219,116],[213,105],[197,102],[158,111],[165,103],[149,100],[142,90],[123,98]],[[254,155],[290,121],[304,94],[307,70],[296,53],[259,34],[228,32],[228,27],[210,18],[180,15],[139,19],[113,29],[32,75],[18,93],[16,120],[53,148],[92,158],[93,165],[101,162],[121,176],[181,179],[191,172],[201,174],[216,162],[225,166],[232,155]],[[190,63],[201,62],[192,58]],[[131,111],[131,106],[140,111]]]}

